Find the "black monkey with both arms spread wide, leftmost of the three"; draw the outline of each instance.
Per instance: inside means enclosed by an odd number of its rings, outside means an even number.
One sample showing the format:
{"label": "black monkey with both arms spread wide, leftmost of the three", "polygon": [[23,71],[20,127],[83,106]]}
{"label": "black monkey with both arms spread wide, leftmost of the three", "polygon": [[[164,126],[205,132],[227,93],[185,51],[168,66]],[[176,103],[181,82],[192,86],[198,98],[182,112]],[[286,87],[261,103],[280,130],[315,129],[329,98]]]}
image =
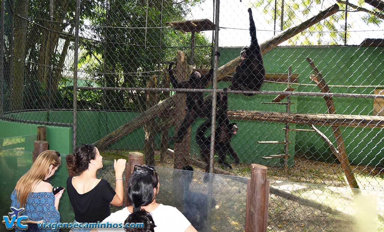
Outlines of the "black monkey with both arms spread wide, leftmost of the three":
{"label": "black monkey with both arms spread wide, leftmost of the three", "polygon": [[[215,56],[220,57],[220,53],[216,52]],[[188,81],[177,82],[172,70],[172,66],[174,64],[174,62],[169,64],[168,72],[169,79],[175,89],[203,89],[212,79],[214,72],[213,67],[206,74],[193,72]],[[174,140],[178,143],[183,140],[185,133],[192,123],[194,123],[198,117],[210,117],[212,109],[212,98],[204,100],[204,94],[202,92],[187,92],[186,102],[187,114],[177,130],[176,135],[174,137],[170,137],[170,140]]]}

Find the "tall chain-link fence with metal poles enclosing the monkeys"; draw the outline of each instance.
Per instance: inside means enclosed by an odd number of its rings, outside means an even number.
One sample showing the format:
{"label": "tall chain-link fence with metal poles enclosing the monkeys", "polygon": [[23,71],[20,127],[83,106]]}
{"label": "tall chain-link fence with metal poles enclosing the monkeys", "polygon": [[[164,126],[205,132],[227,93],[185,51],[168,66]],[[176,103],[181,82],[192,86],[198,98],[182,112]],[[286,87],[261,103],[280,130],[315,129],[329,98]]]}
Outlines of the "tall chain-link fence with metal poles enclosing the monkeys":
{"label": "tall chain-link fence with metal poles enclosing the monkeys", "polygon": [[[150,165],[243,177],[258,163],[278,181],[383,191],[379,0],[2,3],[3,120],[72,127],[73,146],[104,159],[135,150]],[[248,8],[264,83],[225,91],[250,46]],[[190,84],[194,71],[207,81]]]}

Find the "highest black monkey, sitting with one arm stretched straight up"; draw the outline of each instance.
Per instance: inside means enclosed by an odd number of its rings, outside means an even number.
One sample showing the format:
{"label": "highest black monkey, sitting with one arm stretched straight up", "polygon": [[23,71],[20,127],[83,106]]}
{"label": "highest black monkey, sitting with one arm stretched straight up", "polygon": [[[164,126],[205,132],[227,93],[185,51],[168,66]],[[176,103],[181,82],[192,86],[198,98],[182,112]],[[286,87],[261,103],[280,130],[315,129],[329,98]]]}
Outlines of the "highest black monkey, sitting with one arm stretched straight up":
{"label": "highest black monkey, sitting with one arm stretched straight up", "polygon": [[[253,21],[252,10],[249,12],[249,33],[251,35],[251,45],[241,50],[241,63],[236,66],[236,72],[232,77],[231,90],[260,90],[264,82],[265,69],[263,56],[256,38],[256,26]],[[252,96],[255,94],[244,94]]]}

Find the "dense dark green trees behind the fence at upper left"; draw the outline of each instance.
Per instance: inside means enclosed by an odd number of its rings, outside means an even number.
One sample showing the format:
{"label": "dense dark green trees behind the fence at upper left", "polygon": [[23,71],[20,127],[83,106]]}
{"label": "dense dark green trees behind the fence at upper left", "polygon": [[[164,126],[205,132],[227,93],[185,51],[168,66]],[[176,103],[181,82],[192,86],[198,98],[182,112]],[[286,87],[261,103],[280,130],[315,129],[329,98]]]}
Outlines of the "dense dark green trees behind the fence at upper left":
{"label": "dense dark green trees behind the fence at upper left", "polygon": [[[47,105],[65,108],[71,105],[73,98],[72,78],[60,75],[59,87],[52,90],[51,104],[48,104],[48,83],[41,77],[41,69],[46,64],[44,57],[47,54],[46,49],[42,48],[49,42],[48,30],[45,28],[51,26],[49,2],[48,0],[30,0],[28,4],[28,17],[30,17],[26,41],[28,84],[24,91],[25,104],[28,108],[41,108]],[[162,61],[175,61],[178,49],[184,51],[187,57],[190,53],[190,33],[175,31],[167,27],[166,22],[184,20],[191,7],[204,0],[186,0],[179,4],[172,4],[172,2],[82,0],[79,26],[81,36],[79,51],[81,52],[78,57],[78,70],[81,71],[78,76],[81,78],[78,84],[147,87],[147,81],[151,77],[156,77],[159,85],[163,76],[162,71],[153,71],[166,68],[166,65],[161,64]],[[76,1],[55,0],[54,6],[54,31],[73,34]],[[53,33],[53,36],[56,35],[58,34]],[[66,55],[68,57],[63,65],[64,70],[73,70],[73,36],[70,36],[70,39],[71,43]],[[65,38],[61,37],[52,44],[53,67],[58,67],[59,60],[63,58],[61,56],[64,40]],[[210,67],[211,42],[204,35],[197,33],[195,45],[195,65],[200,68]],[[170,48],[173,46],[179,46],[179,48]],[[8,63],[6,65],[9,66]],[[47,74],[44,77],[46,76]],[[85,81],[83,81],[84,77]],[[100,109],[103,107],[103,97],[101,90],[78,90],[78,107],[79,109]],[[145,109],[144,92],[106,91],[105,97],[109,109],[139,110],[137,104]],[[162,99],[164,97],[159,96],[159,100]],[[38,102],[39,105],[33,102]]]}

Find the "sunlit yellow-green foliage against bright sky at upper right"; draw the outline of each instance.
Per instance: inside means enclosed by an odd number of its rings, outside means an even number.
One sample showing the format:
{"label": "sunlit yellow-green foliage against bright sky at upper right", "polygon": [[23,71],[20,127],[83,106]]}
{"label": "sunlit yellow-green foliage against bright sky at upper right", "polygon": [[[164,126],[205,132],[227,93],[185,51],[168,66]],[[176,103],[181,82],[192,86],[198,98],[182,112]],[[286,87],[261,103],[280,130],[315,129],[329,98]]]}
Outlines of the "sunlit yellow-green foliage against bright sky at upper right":
{"label": "sunlit yellow-green foliage against bright sky at upper right", "polygon": [[[364,0],[359,0],[358,5],[364,6]],[[269,24],[273,24],[275,1],[274,0],[256,0],[251,5],[257,8],[258,12],[265,14],[265,20]],[[324,0],[285,0],[284,1],[284,23],[283,29],[290,28],[303,21],[303,18],[309,18],[314,15],[318,10],[323,9],[329,5],[329,1]],[[289,45],[324,45],[324,44],[344,44],[344,30],[349,30],[352,27],[352,23],[348,23],[347,28],[344,28],[345,18],[345,5],[339,3],[340,10],[334,15],[329,16],[325,20],[311,26],[304,32],[288,40]],[[348,10],[351,10],[349,7]],[[350,13],[348,13],[350,14]],[[276,6],[276,28],[280,28],[281,19],[281,0],[277,1]],[[364,13],[361,19],[369,24],[379,26],[383,20],[377,16],[369,13]],[[330,32],[322,32],[330,31]],[[333,32],[335,31],[335,32]],[[350,35],[347,33],[347,41]]]}

